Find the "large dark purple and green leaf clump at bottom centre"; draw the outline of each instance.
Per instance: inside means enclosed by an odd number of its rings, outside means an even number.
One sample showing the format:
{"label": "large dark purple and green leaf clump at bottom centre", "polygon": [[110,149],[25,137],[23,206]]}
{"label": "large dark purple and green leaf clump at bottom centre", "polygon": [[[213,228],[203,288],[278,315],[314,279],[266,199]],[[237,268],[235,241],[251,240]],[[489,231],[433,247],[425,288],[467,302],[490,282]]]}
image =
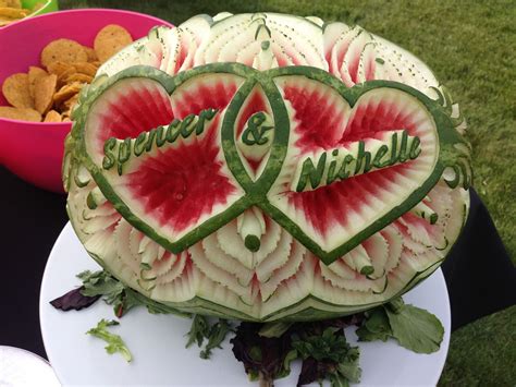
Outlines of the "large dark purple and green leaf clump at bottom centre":
{"label": "large dark purple and green leaf clump at bottom centre", "polygon": [[287,376],[295,359],[303,360],[299,386],[322,379],[339,386],[337,382],[358,382],[360,375],[358,349],[347,343],[340,327],[346,324],[341,318],[295,324],[242,323],[231,343],[236,360],[261,386],[272,386],[274,379]]}

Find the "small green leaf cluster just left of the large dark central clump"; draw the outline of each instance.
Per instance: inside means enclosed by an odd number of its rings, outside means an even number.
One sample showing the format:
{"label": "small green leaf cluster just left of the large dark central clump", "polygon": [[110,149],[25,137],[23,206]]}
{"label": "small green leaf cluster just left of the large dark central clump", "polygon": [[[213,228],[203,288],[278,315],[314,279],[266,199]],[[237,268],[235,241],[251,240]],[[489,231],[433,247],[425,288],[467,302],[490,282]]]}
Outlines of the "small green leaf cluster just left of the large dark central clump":
{"label": "small green leaf cluster just left of the large dark central clump", "polygon": [[208,340],[199,356],[201,359],[209,359],[211,351],[216,348],[222,348],[221,343],[224,341],[229,332],[233,331],[233,327],[225,319],[219,319],[214,324],[210,324],[209,319],[199,314],[195,315],[192,321],[192,327],[186,334],[188,341],[186,348],[189,348],[194,342],[201,348],[205,339]]}

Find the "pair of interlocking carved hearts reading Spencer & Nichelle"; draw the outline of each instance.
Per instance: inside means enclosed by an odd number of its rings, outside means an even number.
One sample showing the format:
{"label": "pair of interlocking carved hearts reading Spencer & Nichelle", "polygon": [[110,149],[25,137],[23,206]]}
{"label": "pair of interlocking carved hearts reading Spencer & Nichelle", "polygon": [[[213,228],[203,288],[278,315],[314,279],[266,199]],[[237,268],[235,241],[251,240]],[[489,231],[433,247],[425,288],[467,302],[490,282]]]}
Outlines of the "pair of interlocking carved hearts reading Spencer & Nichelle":
{"label": "pair of interlocking carved hearts reading Spencer & Nichelle", "polygon": [[329,264],[419,203],[463,143],[414,88],[346,88],[305,66],[132,68],[93,85],[79,109],[105,196],[176,253],[258,206]]}

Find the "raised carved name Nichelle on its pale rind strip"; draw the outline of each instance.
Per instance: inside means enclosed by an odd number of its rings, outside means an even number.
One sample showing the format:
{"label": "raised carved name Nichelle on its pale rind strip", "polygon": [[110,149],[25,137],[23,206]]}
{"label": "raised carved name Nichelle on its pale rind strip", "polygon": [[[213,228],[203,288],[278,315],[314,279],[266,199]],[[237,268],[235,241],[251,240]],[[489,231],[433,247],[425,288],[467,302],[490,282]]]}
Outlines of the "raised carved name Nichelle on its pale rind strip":
{"label": "raised carved name Nichelle on its pale rind strip", "polygon": [[306,156],[297,165],[291,189],[312,191],[335,181],[416,159],[421,141],[406,130],[368,138]]}

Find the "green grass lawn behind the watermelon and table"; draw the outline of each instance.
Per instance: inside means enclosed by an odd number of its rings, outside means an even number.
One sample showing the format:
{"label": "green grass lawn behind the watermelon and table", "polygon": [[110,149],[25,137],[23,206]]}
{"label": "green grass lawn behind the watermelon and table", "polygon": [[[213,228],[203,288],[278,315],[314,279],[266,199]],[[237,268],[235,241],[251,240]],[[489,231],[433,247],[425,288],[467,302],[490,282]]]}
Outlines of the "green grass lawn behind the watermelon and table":
{"label": "green grass lawn behind the watermelon and table", "polygon": [[[514,259],[516,252],[515,1],[61,0],[120,8],[180,24],[198,14],[274,11],[359,24],[414,52],[447,86],[468,121],[475,188]],[[486,257],[489,259],[489,257]],[[489,266],[487,265],[487,269]],[[516,306],[452,335],[441,385],[516,385]]]}

